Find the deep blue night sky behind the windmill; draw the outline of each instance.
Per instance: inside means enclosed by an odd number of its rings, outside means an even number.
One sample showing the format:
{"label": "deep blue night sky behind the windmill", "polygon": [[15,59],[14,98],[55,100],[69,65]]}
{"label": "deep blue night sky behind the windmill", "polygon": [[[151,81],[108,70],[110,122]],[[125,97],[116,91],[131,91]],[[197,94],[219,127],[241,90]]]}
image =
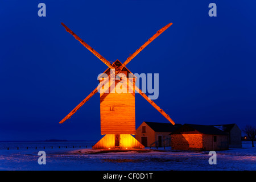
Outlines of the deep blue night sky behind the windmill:
{"label": "deep blue night sky behind the windmill", "polygon": [[[46,17],[38,4],[46,4]],[[217,5],[210,17],[209,3]],[[108,68],[65,23],[109,61],[122,63],[173,25],[127,68],[159,73],[154,100],[176,123],[255,125],[255,1],[1,1],[0,140],[97,140],[100,94],[59,124]],[[168,122],[139,94],[136,127]]]}

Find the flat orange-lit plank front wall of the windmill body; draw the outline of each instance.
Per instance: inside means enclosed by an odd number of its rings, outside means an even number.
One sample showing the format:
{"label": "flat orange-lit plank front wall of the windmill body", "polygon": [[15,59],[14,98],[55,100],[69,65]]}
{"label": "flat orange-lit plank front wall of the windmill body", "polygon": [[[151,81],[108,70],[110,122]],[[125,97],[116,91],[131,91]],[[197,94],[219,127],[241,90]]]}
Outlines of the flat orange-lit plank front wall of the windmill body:
{"label": "flat orange-lit plank front wall of the windmill body", "polygon": [[115,88],[115,93],[109,89],[101,94],[101,134],[135,134],[135,93],[118,93]]}

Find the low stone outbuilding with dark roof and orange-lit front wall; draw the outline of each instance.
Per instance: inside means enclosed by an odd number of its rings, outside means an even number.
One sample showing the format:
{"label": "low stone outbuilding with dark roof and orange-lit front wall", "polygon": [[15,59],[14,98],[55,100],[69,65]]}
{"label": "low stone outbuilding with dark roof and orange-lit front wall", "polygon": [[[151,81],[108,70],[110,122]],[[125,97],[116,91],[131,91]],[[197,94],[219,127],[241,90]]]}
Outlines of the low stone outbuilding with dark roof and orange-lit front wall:
{"label": "low stone outbuilding with dark roof and orange-lit front wall", "polygon": [[171,133],[172,150],[228,150],[228,134],[208,125],[184,124]]}

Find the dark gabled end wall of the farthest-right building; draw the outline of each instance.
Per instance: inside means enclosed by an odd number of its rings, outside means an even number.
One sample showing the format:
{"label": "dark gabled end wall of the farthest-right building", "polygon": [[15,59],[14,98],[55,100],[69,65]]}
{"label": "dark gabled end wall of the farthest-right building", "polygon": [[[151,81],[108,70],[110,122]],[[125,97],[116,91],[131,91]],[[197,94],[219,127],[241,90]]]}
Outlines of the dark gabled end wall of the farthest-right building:
{"label": "dark gabled end wall of the farthest-right building", "polygon": [[237,125],[229,133],[229,148],[242,148],[241,130]]}

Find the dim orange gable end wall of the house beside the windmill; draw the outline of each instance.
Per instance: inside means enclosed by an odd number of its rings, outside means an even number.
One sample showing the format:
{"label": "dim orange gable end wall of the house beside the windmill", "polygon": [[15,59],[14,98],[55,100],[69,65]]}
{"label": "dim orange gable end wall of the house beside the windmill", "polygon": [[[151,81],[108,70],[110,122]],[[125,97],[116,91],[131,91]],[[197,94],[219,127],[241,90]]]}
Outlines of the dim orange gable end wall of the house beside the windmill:
{"label": "dim orange gable end wall of the house beside the windmill", "polygon": [[[142,133],[142,126],[146,126],[146,133]],[[150,144],[155,142],[155,131],[151,129],[145,122],[141,124],[136,130],[135,138],[142,143],[141,138],[147,137],[147,145],[150,147]]]}

